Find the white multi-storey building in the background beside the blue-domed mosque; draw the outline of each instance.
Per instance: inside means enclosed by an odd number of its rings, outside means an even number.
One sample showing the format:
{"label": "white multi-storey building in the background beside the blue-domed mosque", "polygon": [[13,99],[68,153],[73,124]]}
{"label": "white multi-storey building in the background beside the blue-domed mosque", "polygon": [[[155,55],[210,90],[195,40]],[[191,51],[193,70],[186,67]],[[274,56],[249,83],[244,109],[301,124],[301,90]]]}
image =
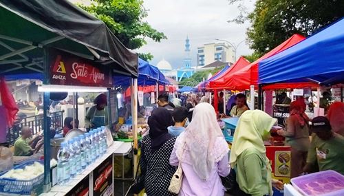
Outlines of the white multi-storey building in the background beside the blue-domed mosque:
{"label": "white multi-storey building in the background beside the blue-domed mosque", "polygon": [[202,47],[197,47],[197,67],[211,64],[214,61],[233,63],[233,48],[226,43],[207,43]]}

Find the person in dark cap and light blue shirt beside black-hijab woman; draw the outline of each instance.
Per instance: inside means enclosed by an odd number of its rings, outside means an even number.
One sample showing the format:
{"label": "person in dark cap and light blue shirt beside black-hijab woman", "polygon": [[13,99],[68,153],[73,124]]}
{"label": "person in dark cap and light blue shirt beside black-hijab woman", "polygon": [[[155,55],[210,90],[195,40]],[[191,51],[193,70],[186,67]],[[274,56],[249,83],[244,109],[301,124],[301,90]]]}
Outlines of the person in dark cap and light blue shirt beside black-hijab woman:
{"label": "person in dark cap and light blue shirt beside black-hijab woman", "polygon": [[185,124],[188,120],[189,110],[186,107],[176,107],[173,110],[173,121],[175,122],[174,126],[170,126],[167,128],[169,133],[173,136],[178,136],[180,133],[185,131]]}

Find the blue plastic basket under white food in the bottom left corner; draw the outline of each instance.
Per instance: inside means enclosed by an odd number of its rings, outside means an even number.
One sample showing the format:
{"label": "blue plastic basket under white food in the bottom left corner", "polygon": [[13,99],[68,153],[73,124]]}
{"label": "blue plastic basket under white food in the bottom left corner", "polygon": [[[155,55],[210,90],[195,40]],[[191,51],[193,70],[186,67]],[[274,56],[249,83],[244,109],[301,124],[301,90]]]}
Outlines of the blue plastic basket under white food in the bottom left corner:
{"label": "blue plastic basket under white food in the bottom left corner", "polygon": [[[23,164],[20,164],[18,166],[14,166],[14,169],[17,168],[25,168],[27,165],[32,165],[34,162],[39,162],[43,164],[43,161],[39,160],[29,160],[28,162],[25,162]],[[4,175],[8,171],[4,171],[0,173],[1,175]],[[21,194],[21,195],[30,195],[31,191],[41,184],[43,184],[44,175],[41,174],[37,177],[34,177],[32,179],[28,180],[19,180],[19,179],[13,179],[13,178],[1,178],[0,177],[0,192],[2,193],[15,193],[15,194]]]}

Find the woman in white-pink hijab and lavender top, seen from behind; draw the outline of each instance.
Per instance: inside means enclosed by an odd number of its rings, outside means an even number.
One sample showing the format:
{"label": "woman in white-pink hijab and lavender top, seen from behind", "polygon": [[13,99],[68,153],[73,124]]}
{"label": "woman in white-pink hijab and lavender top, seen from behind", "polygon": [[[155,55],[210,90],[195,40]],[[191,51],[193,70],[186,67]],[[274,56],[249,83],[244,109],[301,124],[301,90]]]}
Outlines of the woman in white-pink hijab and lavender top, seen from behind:
{"label": "woman in white-pink hijab and lavender top, seen from behind", "polygon": [[228,144],[210,104],[195,107],[193,120],[177,138],[170,164],[178,166],[179,162],[184,173],[179,195],[224,195],[219,176],[230,171]]}

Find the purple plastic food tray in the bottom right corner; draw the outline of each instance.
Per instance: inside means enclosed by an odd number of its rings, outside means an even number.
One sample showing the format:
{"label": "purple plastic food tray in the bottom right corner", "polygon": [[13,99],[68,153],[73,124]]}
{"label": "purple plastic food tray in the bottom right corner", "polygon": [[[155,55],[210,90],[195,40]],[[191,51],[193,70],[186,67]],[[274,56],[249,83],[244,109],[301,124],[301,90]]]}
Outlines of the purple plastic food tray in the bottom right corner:
{"label": "purple plastic food tray in the bottom right corner", "polygon": [[294,177],[291,182],[292,186],[306,196],[344,195],[344,175],[332,170]]}

